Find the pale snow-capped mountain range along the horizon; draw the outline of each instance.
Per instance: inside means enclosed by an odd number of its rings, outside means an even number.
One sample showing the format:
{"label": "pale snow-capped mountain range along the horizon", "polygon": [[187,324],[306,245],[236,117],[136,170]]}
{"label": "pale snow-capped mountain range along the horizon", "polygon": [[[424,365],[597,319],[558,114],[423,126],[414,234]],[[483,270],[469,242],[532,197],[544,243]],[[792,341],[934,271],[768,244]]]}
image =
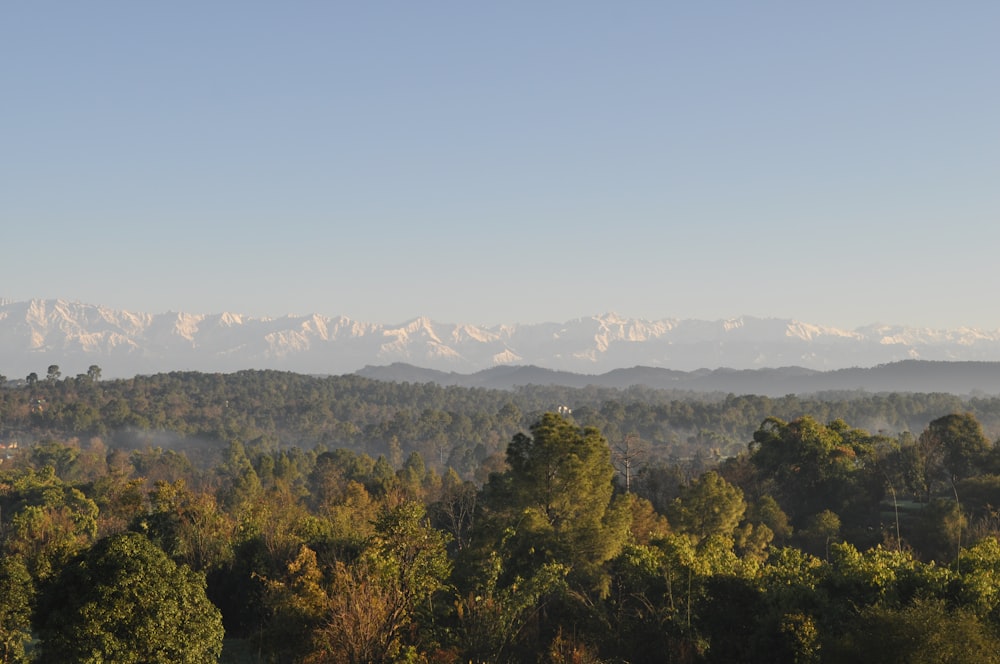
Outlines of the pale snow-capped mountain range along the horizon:
{"label": "pale snow-capped mountain range along the horizon", "polygon": [[585,374],[634,366],[834,370],[906,359],[998,361],[1000,330],[841,330],[747,316],[649,321],[615,314],[493,327],[427,318],[384,325],[316,314],[150,314],[66,300],[0,300],[0,374],[9,378],[44,376],[53,364],[64,376],[96,364],[112,378],[176,370],[345,374],[395,362],[459,373],[500,365]]}

